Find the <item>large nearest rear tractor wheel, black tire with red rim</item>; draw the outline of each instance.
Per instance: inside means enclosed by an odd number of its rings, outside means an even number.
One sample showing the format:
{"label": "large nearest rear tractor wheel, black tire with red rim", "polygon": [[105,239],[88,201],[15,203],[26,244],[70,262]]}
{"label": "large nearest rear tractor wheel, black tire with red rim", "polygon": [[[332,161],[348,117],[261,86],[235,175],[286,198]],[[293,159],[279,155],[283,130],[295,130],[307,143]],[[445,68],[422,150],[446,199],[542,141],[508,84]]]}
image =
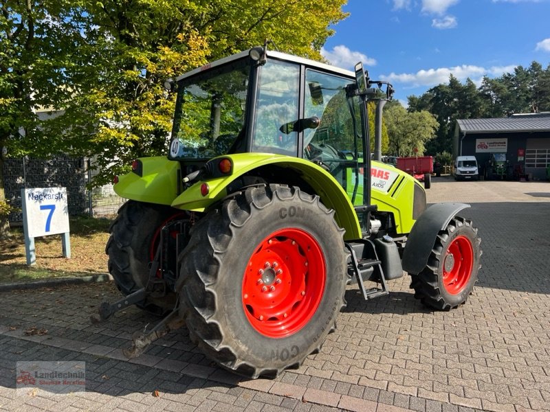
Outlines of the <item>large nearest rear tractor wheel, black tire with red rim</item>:
{"label": "large nearest rear tractor wheel, black tire with red rim", "polygon": [[180,310],[222,367],[277,376],[320,350],[345,307],[334,211],[283,185],[250,187],[199,220],[181,253]]}

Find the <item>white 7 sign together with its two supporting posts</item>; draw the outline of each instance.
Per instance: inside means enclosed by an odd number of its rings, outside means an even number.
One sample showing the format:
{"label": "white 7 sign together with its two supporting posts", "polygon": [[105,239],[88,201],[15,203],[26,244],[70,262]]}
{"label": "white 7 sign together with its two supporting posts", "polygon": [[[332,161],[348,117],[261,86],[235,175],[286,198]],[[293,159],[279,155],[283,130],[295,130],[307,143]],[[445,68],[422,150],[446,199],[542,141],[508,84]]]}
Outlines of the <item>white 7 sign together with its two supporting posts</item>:
{"label": "white 7 sign together with its two supporting posts", "polygon": [[63,257],[71,257],[69,209],[65,187],[21,189],[27,264],[36,263],[34,238],[61,233]]}

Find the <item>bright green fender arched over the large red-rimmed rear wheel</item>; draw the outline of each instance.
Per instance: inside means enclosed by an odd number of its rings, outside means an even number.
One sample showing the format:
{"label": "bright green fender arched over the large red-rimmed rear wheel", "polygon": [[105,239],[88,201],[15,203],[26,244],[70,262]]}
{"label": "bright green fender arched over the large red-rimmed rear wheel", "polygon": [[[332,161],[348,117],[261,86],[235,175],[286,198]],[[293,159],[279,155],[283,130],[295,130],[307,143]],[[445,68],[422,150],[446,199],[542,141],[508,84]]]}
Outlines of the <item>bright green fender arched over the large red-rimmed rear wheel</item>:
{"label": "bright green fender arched over the large red-rimmed rear wheel", "polygon": [[173,207],[192,211],[205,211],[212,203],[220,201],[228,195],[226,187],[237,177],[265,165],[278,165],[281,168],[296,170],[302,179],[313,187],[322,203],[336,211],[336,222],[346,230],[344,239],[360,239],[361,227],[355,209],[351,205],[346,192],[338,181],[318,165],[297,157],[273,155],[266,153],[239,153],[224,156],[232,160],[233,173],[206,180],[208,183],[208,195],[202,196],[201,185],[205,181],[199,181],[181,193],[172,202]]}

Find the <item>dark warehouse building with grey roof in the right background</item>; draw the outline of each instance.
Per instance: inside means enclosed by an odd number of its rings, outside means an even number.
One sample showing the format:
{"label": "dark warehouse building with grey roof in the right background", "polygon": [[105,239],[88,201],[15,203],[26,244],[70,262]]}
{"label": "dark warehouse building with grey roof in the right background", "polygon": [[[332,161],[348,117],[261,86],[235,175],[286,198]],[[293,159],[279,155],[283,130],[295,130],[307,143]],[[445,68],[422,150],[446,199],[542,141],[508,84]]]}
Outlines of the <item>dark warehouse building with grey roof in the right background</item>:
{"label": "dark warehouse building with grey roof in the right background", "polygon": [[482,174],[492,153],[505,153],[511,168],[531,179],[546,179],[550,166],[550,113],[456,121],[453,157],[475,156]]}

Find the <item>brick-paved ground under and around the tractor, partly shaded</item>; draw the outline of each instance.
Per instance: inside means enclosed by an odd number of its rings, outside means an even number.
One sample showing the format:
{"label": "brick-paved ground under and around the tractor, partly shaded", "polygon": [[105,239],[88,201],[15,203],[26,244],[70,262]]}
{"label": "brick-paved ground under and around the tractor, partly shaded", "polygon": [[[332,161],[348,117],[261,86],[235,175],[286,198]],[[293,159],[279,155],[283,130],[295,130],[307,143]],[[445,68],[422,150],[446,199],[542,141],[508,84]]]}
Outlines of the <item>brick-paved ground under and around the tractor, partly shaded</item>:
{"label": "brick-paved ground under and around the tractor, partly shaded", "polygon": [[[112,284],[0,293],[0,409],[8,411],[550,410],[550,183],[433,179],[428,201],[472,203],[482,237],[474,294],[450,312],[413,298],[406,277],[365,302],[355,286],[319,354],[275,380],[218,369],[182,328],[126,361],[137,308],[89,323]],[[47,334],[25,332],[46,329]],[[85,393],[16,392],[16,361],[85,361]],[[20,390],[21,391],[21,390]],[[159,391],[159,396],[153,396]]]}

